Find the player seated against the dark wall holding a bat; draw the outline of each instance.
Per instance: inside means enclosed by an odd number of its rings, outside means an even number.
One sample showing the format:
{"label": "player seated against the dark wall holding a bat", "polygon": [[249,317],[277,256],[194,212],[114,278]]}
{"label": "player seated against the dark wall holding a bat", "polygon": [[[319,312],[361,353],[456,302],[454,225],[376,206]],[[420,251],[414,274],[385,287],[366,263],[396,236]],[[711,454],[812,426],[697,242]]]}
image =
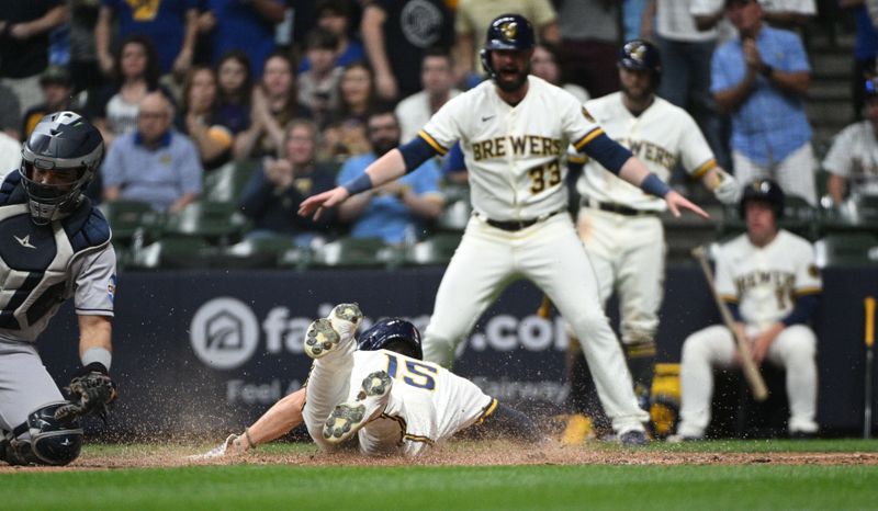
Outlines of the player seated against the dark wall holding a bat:
{"label": "player seated against the dark wall holding a bat", "polygon": [[[819,304],[820,273],[814,248],[777,227],[784,192],[772,180],[744,189],[741,216],[747,231],[720,248],[717,292],[729,306],[735,329],[751,343],[753,361],[780,365],[787,373],[792,438],[813,436],[817,417],[817,338],[808,327]],[[730,367],[739,356],[732,332],[708,327],[683,343],[680,423],[669,440],[703,438],[710,423],[713,367]]]}

